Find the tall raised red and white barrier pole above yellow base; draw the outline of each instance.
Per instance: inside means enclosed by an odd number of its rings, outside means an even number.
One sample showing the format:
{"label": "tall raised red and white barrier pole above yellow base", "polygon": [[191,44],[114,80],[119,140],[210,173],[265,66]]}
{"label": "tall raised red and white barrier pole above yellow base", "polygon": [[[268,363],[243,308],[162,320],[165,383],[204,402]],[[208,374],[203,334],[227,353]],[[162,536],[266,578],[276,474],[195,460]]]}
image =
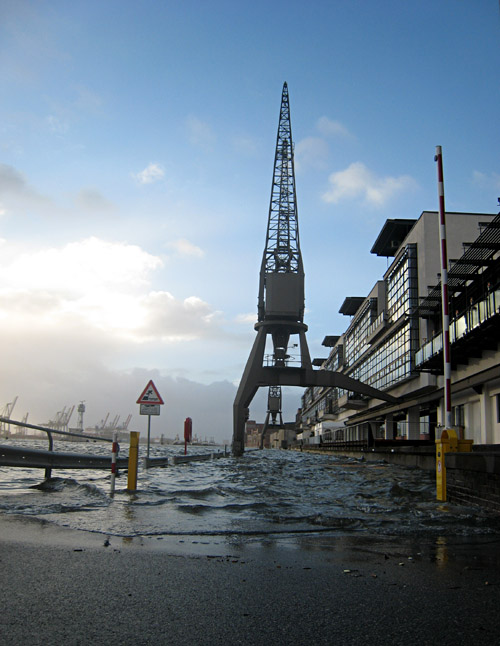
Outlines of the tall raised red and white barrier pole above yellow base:
{"label": "tall raised red and white barrier pole above yellow base", "polygon": [[450,314],[448,299],[448,252],[446,248],[446,221],[444,207],[443,153],[441,146],[436,146],[439,197],[439,238],[441,242],[441,306],[443,318],[443,368],[444,368],[444,403],[445,428],[451,428],[451,357],[450,357]]}

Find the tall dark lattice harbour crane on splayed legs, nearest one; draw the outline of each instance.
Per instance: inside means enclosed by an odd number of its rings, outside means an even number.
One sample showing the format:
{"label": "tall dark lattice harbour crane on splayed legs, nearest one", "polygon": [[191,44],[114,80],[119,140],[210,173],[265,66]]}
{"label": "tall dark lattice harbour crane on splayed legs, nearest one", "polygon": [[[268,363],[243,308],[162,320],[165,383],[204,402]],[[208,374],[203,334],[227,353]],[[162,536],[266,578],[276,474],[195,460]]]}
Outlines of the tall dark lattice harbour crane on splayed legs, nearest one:
{"label": "tall dark lattice harbour crane on splayed legs, nearest one", "polygon": [[[283,85],[274,155],[266,245],[259,280],[257,337],[248,357],[233,405],[233,454],[242,455],[248,406],[261,386],[332,386],[396,402],[390,395],[341,373],[313,370],[304,319],[304,267],[299,244],[297,195],[288,86]],[[264,365],[267,337],[273,342]],[[290,365],[288,345],[298,335],[300,365]]]}

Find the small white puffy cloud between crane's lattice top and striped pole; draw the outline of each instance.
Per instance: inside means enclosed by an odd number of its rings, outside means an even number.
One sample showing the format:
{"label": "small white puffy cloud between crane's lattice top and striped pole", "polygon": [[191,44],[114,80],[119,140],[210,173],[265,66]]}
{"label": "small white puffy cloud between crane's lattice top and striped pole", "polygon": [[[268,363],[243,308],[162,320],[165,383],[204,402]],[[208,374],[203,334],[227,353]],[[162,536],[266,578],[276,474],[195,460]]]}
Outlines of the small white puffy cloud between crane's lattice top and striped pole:
{"label": "small white puffy cloud between crane's lattice top and striped pole", "polygon": [[382,207],[396,195],[417,186],[409,175],[378,177],[361,162],[332,173],[328,181],[330,188],[322,196],[325,202],[337,204],[341,200],[362,198],[365,204],[375,207]]}

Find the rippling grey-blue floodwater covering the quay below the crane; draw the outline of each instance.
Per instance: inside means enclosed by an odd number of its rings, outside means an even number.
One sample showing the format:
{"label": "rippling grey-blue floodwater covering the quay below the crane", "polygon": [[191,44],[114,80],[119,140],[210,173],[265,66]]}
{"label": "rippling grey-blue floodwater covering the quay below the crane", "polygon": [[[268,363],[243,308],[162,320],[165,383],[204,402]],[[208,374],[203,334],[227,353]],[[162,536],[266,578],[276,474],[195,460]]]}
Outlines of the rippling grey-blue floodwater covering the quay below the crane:
{"label": "rippling grey-blue floodwater covering the quay below the crane", "polygon": [[[46,448],[43,441],[8,443]],[[55,448],[110,452],[98,443]],[[183,450],[152,446],[151,457]],[[53,476],[40,486],[41,469],[0,467],[0,513],[120,537],[500,536],[498,515],[436,501],[432,473],[340,456],[247,451],[237,459],[140,469],[138,491],[126,491],[123,473],[114,497],[107,471],[55,469]]]}

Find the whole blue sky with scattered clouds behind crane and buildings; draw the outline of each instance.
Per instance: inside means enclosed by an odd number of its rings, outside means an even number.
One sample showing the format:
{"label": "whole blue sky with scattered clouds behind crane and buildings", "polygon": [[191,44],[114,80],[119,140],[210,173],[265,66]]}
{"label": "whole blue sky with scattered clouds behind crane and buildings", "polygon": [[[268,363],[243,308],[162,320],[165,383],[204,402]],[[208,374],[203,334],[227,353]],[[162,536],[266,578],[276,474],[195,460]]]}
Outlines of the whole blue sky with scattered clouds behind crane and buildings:
{"label": "whole blue sky with scattered clouds behind crane and buildings", "polygon": [[153,377],[158,432],[190,415],[230,437],[283,82],[324,356],[345,296],[386,268],[385,219],[437,208],[436,145],[447,209],[495,212],[499,43],[496,0],[4,0],[0,410],[85,400],[86,423],[111,409],[141,430]]}

